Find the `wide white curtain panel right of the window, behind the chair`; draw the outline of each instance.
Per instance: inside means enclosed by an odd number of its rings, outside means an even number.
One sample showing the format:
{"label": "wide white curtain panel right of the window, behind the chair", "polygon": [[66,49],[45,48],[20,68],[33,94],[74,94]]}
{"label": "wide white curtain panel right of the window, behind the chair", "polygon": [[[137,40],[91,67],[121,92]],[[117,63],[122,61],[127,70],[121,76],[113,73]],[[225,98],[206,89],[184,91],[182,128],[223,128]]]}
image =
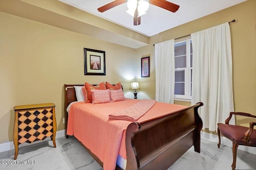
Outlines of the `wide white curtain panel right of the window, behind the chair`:
{"label": "wide white curtain panel right of the window, behind the chair", "polygon": [[[203,102],[203,129],[216,131],[234,111],[230,28],[224,23],[191,34],[193,48],[192,100]],[[230,124],[234,125],[234,117]]]}

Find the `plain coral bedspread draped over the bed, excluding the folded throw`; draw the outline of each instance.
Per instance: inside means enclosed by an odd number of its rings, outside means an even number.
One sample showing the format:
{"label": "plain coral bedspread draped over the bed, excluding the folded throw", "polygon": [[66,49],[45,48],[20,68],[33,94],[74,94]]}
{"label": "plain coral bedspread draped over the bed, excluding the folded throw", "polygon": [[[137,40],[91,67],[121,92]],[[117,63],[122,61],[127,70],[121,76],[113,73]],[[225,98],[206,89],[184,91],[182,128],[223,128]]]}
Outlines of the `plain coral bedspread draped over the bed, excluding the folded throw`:
{"label": "plain coral bedspread draped over the bed, excluding the folded throw", "polygon": [[[91,104],[72,104],[68,116],[67,135],[74,135],[102,162],[104,170],[114,170],[118,154],[126,159],[125,132],[130,121],[108,119],[108,115],[126,109],[140,100]],[[185,106],[156,102],[138,122],[164,115]],[[136,111],[136,110],[135,110]]]}

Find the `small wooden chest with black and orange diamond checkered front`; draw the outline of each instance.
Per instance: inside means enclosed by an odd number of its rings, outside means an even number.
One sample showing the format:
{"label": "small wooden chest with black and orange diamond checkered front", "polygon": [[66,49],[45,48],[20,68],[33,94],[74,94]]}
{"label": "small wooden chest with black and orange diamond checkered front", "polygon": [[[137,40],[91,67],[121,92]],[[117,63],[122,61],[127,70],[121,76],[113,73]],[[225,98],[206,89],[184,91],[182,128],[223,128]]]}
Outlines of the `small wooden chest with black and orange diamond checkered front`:
{"label": "small wooden chest with black and orange diamond checkered front", "polygon": [[13,143],[15,147],[16,160],[18,146],[21,143],[33,143],[50,137],[54,148],[56,136],[55,104],[33,104],[15,106],[15,121],[13,130]]}

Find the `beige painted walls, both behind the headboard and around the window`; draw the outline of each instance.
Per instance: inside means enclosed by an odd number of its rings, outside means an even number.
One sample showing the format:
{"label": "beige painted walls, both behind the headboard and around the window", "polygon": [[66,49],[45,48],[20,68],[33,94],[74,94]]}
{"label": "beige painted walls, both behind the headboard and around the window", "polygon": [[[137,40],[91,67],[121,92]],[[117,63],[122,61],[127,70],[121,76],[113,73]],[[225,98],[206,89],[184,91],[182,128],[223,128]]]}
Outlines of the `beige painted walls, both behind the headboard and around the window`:
{"label": "beige painted walls, both behind the headboard and around the window", "polygon": [[[216,12],[150,37],[150,44],[131,49],[79,33],[66,31],[0,12],[0,143],[12,141],[13,107],[23,104],[56,104],[57,130],[64,129],[64,84],[121,81],[132,97],[130,81],[140,82],[138,98],[155,99],[153,44],[182,37],[221,23],[230,24],[233,84],[236,111],[256,115],[256,1]],[[74,25],[75,26],[75,25]],[[106,76],[84,76],[83,48],[106,51]],[[150,77],[140,77],[140,58],[150,55]],[[176,104],[190,103],[175,102]],[[237,118],[244,125],[245,119]]]}

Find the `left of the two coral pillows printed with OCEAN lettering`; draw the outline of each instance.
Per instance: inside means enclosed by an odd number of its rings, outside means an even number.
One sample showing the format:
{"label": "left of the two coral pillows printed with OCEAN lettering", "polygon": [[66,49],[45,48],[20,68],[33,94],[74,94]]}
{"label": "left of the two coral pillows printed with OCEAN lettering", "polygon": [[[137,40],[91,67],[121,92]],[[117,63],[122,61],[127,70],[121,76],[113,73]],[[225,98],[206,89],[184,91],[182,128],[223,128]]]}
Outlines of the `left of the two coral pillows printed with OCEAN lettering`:
{"label": "left of the two coral pillows printed with OCEAN lettering", "polygon": [[92,104],[109,103],[110,95],[109,89],[106,90],[91,90],[92,92]]}

